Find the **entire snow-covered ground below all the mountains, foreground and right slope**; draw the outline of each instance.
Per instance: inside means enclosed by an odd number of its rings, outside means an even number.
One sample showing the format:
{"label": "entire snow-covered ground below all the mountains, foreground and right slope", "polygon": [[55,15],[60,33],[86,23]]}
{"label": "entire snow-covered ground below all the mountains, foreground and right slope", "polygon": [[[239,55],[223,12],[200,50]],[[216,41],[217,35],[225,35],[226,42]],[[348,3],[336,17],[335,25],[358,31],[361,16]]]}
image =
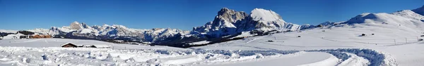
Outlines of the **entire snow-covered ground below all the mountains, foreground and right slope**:
{"label": "entire snow-covered ground below all the mountains, foreground and right slope", "polygon": [[[360,26],[317,28],[302,32],[248,37],[194,48],[112,44],[81,39],[6,39],[0,40],[0,63],[1,65],[119,66],[424,65],[422,63],[424,57],[421,56],[424,55],[424,51],[420,51],[424,50],[420,48],[424,44],[416,40],[419,33],[386,33],[384,31],[401,29],[385,29]],[[367,36],[359,37],[362,33]],[[371,33],[375,35],[370,35]],[[273,42],[268,42],[269,40]],[[60,47],[67,42],[104,44],[112,48]]]}

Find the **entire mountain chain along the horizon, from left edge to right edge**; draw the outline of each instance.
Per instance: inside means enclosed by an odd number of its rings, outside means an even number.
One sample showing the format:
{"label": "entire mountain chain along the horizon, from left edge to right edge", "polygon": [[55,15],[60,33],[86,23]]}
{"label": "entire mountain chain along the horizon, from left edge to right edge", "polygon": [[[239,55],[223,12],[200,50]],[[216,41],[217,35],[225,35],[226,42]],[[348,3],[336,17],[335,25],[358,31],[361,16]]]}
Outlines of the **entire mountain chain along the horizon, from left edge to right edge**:
{"label": "entire mountain chain along the horizon, from left edge to right edge", "polygon": [[[424,29],[424,6],[395,13],[363,13],[346,22],[323,22],[319,25],[296,25],[285,22],[280,15],[262,8],[255,8],[250,14],[222,8],[215,19],[191,31],[171,28],[131,29],[123,25],[94,25],[72,22],[69,26],[50,29],[31,29],[30,32],[52,34],[57,38],[120,40],[142,44],[189,47],[193,42],[208,41],[213,44],[242,37],[259,36],[275,32],[290,32],[315,27],[338,27],[357,24],[405,25],[413,29]],[[403,23],[399,23],[403,22]],[[406,23],[405,23],[406,22]],[[1,32],[1,31],[0,31]],[[245,35],[248,34],[248,35]]]}

